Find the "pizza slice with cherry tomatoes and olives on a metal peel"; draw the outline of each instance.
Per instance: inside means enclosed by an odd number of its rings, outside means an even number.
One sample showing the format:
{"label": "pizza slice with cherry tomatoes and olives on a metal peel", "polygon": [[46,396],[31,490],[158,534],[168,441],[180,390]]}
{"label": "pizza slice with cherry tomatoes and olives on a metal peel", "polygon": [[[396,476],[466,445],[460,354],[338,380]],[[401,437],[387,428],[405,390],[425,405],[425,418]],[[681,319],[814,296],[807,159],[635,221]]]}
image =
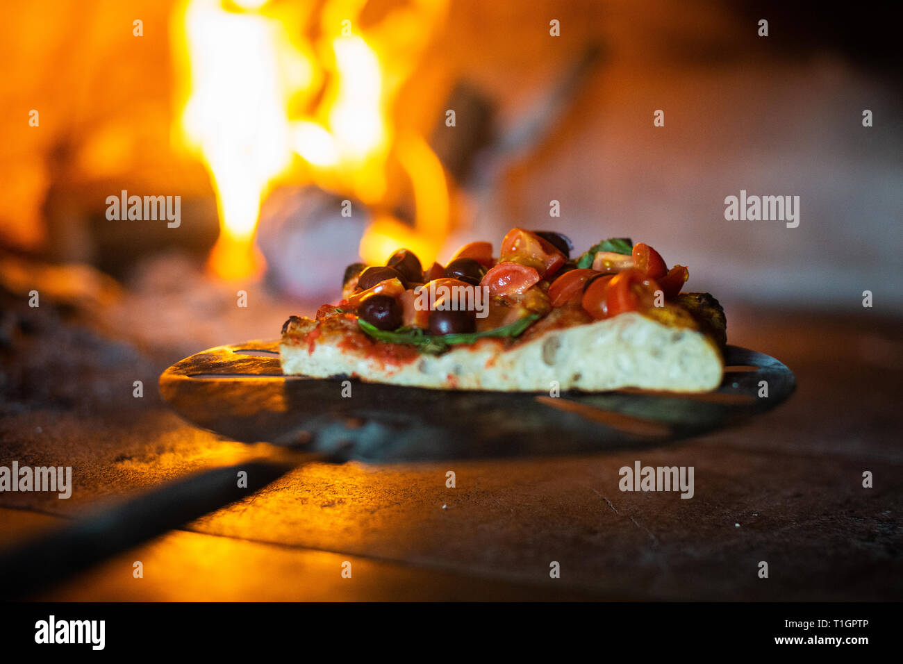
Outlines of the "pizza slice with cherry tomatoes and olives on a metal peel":
{"label": "pizza slice with cherry tomatoes and olives on a metal peel", "polygon": [[726,322],[654,248],[610,238],[580,257],[561,233],[512,229],[446,266],[406,249],[345,272],[339,304],[292,316],[287,375],[420,388],[700,392],[721,384]]}

